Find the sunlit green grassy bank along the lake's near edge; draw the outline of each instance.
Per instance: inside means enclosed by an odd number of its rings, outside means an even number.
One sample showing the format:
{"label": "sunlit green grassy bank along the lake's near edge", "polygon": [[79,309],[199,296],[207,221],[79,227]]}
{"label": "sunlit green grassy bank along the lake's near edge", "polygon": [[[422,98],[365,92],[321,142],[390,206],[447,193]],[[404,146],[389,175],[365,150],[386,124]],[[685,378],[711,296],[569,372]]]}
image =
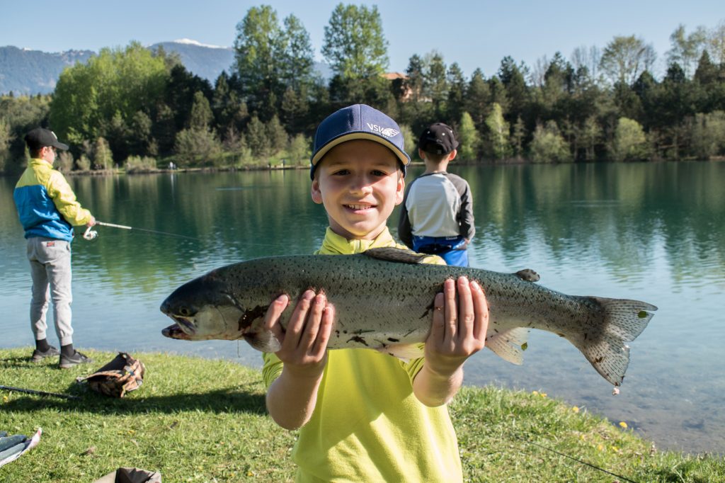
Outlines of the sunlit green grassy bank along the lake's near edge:
{"label": "sunlit green grassy bank along the lake's near edge", "polygon": [[[30,352],[0,350],[0,385],[80,400],[0,391],[0,430],[30,435],[43,428],[38,447],[0,468],[0,482],[88,483],[121,466],[159,471],[165,482],[294,479],[296,433],[267,416],[256,369],[139,353],[146,364],[144,385],[117,400],[75,382],[115,354],[88,351],[97,361],[92,367],[62,371],[55,359],[31,363]],[[466,481],[725,481],[722,456],[655,450],[628,429],[537,392],[465,387],[450,410]]]}

